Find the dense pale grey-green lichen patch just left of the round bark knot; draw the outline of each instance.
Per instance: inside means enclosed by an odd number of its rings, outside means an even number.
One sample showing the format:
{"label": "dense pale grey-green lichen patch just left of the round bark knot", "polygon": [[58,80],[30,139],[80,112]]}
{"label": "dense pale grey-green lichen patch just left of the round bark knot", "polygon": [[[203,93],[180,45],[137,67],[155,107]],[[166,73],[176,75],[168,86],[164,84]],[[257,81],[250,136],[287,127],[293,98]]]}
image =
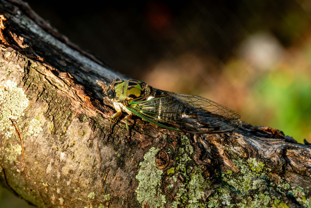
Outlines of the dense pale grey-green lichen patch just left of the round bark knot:
{"label": "dense pale grey-green lichen patch just left of the round bark knot", "polygon": [[137,200],[142,203],[142,207],[146,204],[149,207],[164,207],[166,203],[165,195],[161,194],[159,188],[162,182],[162,170],[156,167],[156,153],[159,149],[150,148],[149,152],[144,155],[144,161],[140,162],[141,166],[136,179],[139,181],[137,187]]}

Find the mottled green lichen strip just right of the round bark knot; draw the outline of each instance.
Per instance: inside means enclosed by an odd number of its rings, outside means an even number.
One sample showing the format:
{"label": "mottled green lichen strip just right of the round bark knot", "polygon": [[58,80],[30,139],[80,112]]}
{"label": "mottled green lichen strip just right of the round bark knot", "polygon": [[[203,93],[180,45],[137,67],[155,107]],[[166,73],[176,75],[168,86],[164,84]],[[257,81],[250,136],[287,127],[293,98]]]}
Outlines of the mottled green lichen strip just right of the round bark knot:
{"label": "mottled green lichen strip just right of the round bark knot", "polygon": [[190,165],[193,160],[189,155],[192,155],[194,151],[188,137],[183,136],[181,141],[182,147],[179,149],[179,154],[181,156],[179,157],[176,167],[176,171],[178,171],[176,174],[182,175],[184,181],[180,185],[181,187],[179,188],[176,197],[174,197],[175,201],[172,202],[172,207],[206,207],[206,205],[200,203],[199,200],[204,197],[204,190],[208,187],[208,184],[202,175],[201,168],[192,167]]}

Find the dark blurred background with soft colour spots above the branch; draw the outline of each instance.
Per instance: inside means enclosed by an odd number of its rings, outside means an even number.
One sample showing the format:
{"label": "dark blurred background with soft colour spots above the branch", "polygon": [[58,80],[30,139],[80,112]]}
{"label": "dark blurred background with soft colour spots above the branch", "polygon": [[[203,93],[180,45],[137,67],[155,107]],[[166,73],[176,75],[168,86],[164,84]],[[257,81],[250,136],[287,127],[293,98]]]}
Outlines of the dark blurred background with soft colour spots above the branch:
{"label": "dark blurred background with soft colour spots above the branch", "polygon": [[[200,95],[242,121],[311,142],[309,0],[27,2],[133,79]],[[14,207],[6,201],[0,207]]]}

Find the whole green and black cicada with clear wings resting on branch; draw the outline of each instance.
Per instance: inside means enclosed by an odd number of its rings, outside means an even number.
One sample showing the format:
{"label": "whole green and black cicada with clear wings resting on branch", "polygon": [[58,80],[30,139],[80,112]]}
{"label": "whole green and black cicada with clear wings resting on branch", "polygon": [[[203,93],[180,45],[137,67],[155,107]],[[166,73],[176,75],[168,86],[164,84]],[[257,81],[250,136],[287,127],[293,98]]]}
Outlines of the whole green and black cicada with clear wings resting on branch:
{"label": "whole green and black cicada with clear wings resting on branch", "polygon": [[105,91],[117,111],[110,118],[109,133],[122,110],[128,113],[124,118],[128,133],[132,114],[178,132],[225,133],[242,126],[240,114],[223,105],[197,95],[154,89],[139,80],[115,78]]}

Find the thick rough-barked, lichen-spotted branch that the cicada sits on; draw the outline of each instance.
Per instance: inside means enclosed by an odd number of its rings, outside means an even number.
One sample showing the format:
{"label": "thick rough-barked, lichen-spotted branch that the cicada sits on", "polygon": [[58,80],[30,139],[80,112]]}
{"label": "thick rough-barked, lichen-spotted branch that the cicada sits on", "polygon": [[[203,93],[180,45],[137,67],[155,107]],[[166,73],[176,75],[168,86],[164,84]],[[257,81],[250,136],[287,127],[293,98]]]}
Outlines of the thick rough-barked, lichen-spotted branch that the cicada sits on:
{"label": "thick rough-barked, lichen-spotted branch that the cicada sits on", "polygon": [[188,134],[134,117],[107,136],[123,75],[26,3],[0,0],[0,183],[38,207],[310,207],[311,150],[269,127]]}

